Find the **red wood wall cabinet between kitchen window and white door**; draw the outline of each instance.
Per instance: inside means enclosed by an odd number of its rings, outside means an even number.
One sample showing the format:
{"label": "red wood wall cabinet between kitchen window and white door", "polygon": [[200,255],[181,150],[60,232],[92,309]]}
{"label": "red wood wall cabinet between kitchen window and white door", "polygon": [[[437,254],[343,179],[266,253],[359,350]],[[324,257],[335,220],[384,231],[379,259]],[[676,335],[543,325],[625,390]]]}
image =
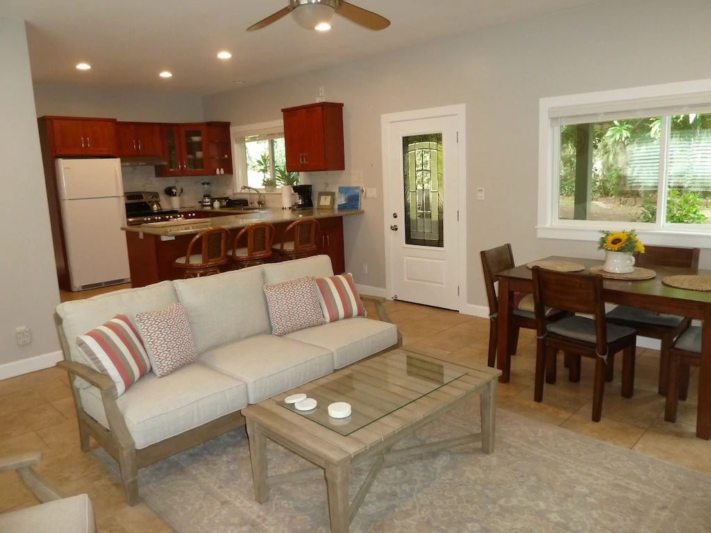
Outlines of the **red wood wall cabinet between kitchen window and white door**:
{"label": "red wood wall cabinet between kitchen window and white door", "polygon": [[343,104],[321,102],[282,109],[287,171],[343,171]]}

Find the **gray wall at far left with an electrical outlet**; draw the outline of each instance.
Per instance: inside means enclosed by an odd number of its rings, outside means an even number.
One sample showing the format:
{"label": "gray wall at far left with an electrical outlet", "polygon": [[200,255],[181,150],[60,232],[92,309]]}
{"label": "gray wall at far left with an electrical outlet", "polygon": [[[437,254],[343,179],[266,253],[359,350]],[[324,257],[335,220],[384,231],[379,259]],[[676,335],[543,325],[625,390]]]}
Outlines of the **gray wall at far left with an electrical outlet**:
{"label": "gray wall at far left with an electrical outlet", "polygon": [[[0,17],[0,365],[59,350],[59,303],[25,23]],[[15,328],[33,341],[18,346]],[[0,378],[1,379],[1,378]]]}

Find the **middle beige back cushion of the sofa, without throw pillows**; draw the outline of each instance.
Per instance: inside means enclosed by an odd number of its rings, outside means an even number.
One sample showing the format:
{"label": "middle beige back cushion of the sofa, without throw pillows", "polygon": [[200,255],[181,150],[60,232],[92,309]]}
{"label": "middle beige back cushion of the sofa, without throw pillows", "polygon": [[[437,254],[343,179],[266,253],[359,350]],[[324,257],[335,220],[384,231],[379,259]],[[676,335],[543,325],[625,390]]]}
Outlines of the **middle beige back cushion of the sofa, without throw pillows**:
{"label": "middle beige back cushion of the sofa, without throw pillows", "polygon": [[188,313],[198,352],[272,332],[262,266],[173,283]]}

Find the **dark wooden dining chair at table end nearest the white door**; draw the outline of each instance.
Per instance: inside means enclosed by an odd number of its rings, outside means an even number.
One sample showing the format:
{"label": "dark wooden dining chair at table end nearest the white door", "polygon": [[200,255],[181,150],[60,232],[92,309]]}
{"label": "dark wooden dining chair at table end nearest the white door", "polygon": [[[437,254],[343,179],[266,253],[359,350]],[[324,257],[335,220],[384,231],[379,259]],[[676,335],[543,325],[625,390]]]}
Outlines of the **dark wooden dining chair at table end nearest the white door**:
{"label": "dark wooden dining chair at table end nearest the white door", "polygon": [[[481,256],[481,269],[484,274],[484,285],[486,286],[486,298],[489,304],[489,344],[488,344],[488,366],[496,366],[496,347],[498,345],[498,297],[496,296],[496,274],[504,270],[513,269],[513,250],[510,244],[483,250],[479,252]],[[570,316],[567,311],[549,311],[547,321],[559,321],[566,316]],[[518,349],[518,332],[520,328],[535,330],[535,314],[531,311],[514,309],[512,321],[510,323],[509,350],[510,355],[514,355]]]}

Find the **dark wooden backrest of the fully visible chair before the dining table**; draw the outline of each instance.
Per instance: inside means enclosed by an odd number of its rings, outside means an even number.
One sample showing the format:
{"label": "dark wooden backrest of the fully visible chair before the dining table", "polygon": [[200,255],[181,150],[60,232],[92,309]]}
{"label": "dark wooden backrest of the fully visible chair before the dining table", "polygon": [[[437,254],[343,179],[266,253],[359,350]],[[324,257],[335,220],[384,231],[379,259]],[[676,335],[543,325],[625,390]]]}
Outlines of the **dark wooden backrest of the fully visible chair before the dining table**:
{"label": "dark wooden backrest of the fully visible chair before the dining table", "polygon": [[547,333],[545,308],[555,307],[574,313],[592,315],[597,333],[597,352],[607,350],[605,303],[602,299],[602,276],[570,274],[533,267],[533,302],[538,337]]}

